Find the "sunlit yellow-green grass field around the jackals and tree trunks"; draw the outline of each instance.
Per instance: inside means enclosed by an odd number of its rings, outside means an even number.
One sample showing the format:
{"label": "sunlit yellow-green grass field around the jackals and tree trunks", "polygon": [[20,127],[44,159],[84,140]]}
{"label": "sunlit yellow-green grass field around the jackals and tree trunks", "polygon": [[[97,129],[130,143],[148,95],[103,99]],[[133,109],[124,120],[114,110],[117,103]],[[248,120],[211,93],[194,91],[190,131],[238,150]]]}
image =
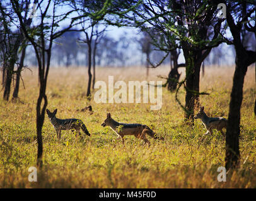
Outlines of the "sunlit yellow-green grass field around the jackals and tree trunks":
{"label": "sunlit yellow-green grass field around the jackals and tree trunks", "polygon": [[[144,68],[97,68],[96,80],[113,75],[114,80],[146,80]],[[148,80],[161,80],[169,67],[150,70]],[[183,121],[183,110],[175,94],[163,89],[163,106],[150,110],[149,104],[96,104],[86,100],[87,74],[84,68],[51,68],[47,84],[48,108],[57,108],[57,117],[82,119],[91,138],[76,138],[62,131],[59,141],[50,121],[43,127],[44,166],[38,170],[38,182],[28,182],[28,168],[36,166],[37,141],[35,105],[38,97],[36,68],[23,72],[19,102],[0,99],[0,188],[255,188],[256,121],[255,69],[245,77],[241,107],[241,163],[228,172],[226,182],[218,182],[217,168],[224,166],[225,142],[218,133],[201,141],[206,131],[201,121],[190,128]],[[228,117],[234,67],[206,68],[201,77],[201,97],[208,116]],[[185,73],[182,72],[182,75]],[[2,94],[3,92],[1,92]],[[93,92],[94,94],[95,92]],[[182,89],[178,95],[185,99]],[[81,112],[93,107],[93,114]],[[110,128],[100,124],[111,112],[120,122],[147,124],[165,141],[150,139],[151,146],[127,137],[116,141]]]}

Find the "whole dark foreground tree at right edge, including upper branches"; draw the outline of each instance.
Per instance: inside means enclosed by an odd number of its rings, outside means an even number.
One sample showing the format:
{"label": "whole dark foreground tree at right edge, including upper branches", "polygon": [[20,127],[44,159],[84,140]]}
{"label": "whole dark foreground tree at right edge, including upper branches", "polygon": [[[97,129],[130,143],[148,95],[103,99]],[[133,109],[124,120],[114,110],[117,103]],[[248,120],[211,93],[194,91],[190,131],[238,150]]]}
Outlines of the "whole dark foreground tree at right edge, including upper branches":
{"label": "whole dark foreground tree at right edge, including upper branches", "polygon": [[[239,136],[240,136],[240,109],[243,100],[243,82],[247,68],[256,62],[256,52],[248,50],[243,44],[242,31],[252,31],[256,34],[255,2],[226,1],[226,20],[233,36],[233,45],[236,52],[236,67],[233,77],[233,87],[230,95],[230,111],[228,113],[228,126],[226,131],[226,169],[234,168],[239,164]],[[254,13],[254,15],[253,15]],[[254,24],[253,24],[254,23]]]}

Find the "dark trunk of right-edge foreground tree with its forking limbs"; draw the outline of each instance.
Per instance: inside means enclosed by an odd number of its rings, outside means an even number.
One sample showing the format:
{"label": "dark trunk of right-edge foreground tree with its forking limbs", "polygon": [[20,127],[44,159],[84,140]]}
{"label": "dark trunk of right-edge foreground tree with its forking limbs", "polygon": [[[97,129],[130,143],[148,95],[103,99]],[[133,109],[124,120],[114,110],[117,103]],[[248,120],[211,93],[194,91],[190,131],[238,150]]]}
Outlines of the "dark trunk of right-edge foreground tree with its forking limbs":
{"label": "dark trunk of right-edge foreground tree with its forking limbs", "polygon": [[[246,6],[244,8],[246,8]],[[228,113],[228,126],[226,129],[225,166],[228,170],[230,168],[236,168],[240,160],[238,138],[240,136],[240,110],[243,100],[243,82],[248,66],[256,60],[256,52],[246,50],[243,46],[241,40],[241,27],[240,25],[238,26],[235,24],[235,20],[230,13],[230,8],[227,9],[226,20],[233,36],[233,44],[236,51],[236,68],[230,95],[230,111]]]}

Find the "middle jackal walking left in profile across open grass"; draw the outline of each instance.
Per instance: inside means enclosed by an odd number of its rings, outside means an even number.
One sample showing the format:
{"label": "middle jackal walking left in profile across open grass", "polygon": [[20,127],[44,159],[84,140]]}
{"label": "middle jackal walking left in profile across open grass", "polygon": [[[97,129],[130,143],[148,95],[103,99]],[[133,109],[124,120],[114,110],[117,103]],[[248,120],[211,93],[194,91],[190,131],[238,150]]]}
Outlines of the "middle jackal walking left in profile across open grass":
{"label": "middle jackal walking left in profile across open grass", "polygon": [[148,143],[148,145],[150,145],[150,143],[146,138],[146,134],[154,139],[163,139],[156,136],[156,133],[146,125],[120,123],[113,120],[110,113],[107,113],[107,119],[102,123],[102,126],[110,126],[110,128],[117,134],[117,139],[121,139],[122,143],[124,143],[125,135],[134,135],[136,138],[143,139],[144,143]]}

